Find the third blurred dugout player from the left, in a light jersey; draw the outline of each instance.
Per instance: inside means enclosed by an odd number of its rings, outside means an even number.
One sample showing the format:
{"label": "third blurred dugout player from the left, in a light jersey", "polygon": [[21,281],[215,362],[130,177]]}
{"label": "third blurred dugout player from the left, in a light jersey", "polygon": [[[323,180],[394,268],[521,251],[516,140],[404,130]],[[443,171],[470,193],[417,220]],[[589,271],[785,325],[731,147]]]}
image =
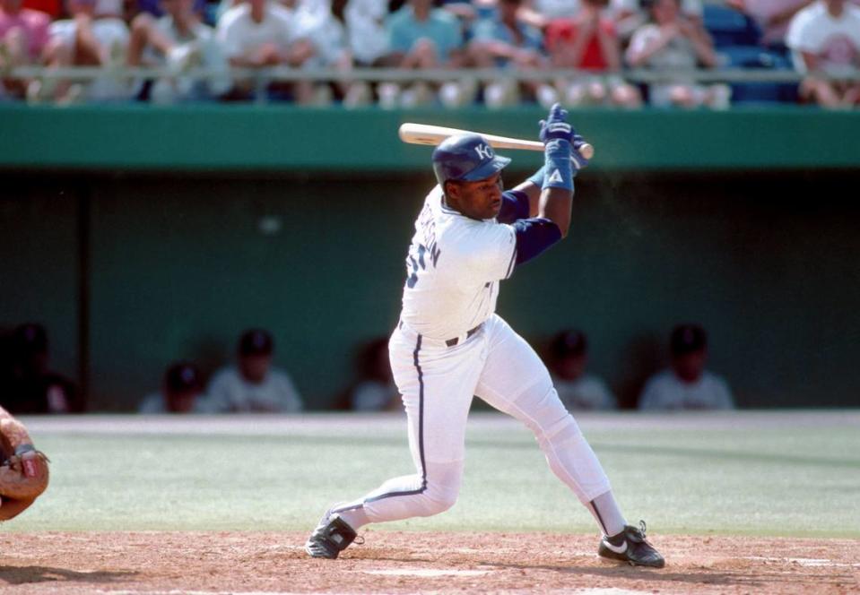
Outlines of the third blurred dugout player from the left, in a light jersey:
{"label": "third blurred dugout player from the left, in a light jersey", "polygon": [[204,407],[214,413],[283,412],[302,410],[299,392],[289,375],[272,366],[274,340],[262,329],[242,333],[239,365],[218,372],[209,386]]}

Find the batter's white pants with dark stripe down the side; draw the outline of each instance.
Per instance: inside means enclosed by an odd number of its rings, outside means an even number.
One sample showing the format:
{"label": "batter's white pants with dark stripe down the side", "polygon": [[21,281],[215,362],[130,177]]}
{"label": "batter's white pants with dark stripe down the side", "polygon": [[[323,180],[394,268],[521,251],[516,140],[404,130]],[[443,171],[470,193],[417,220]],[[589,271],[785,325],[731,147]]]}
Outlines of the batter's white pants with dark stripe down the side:
{"label": "batter's white pants with dark stripe down the side", "polygon": [[441,513],[456,502],[465,459],[465,424],[473,395],[523,421],[556,476],[583,504],[611,487],[577,422],[552,387],[537,354],[508,323],[492,315],[454,347],[395,329],[388,343],[403,395],[415,475],[389,479],[361,500],[369,522]]}

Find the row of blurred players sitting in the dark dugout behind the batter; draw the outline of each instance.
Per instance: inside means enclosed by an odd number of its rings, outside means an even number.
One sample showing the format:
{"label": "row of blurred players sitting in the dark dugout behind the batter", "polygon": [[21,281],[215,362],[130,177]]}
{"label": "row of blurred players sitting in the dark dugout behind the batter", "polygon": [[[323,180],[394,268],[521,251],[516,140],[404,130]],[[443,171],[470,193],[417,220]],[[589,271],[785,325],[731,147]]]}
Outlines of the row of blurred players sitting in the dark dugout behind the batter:
{"label": "row of blurred players sitting in the dark dugout behind the batter", "polygon": [[[86,407],[74,383],[48,366],[48,334],[36,323],[22,324],[2,337],[0,406],[12,413],[79,413]],[[305,403],[290,375],[274,366],[274,337],[248,329],[239,337],[234,362],[205,382],[192,361],[169,363],[157,390],[137,409],[164,413],[296,413]],[[616,410],[612,389],[588,369],[588,338],[577,329],[558,332],[543,357],[561,401],[569,410]],[[647,379],[640,410],[729,410],[734,398],[725,380],[709,372],[708,336],[698,324],[679,324],[668,337],[665,369]],[[388,365],[387,337],[362,345],[352,382],[334,409],[403,411]]]}

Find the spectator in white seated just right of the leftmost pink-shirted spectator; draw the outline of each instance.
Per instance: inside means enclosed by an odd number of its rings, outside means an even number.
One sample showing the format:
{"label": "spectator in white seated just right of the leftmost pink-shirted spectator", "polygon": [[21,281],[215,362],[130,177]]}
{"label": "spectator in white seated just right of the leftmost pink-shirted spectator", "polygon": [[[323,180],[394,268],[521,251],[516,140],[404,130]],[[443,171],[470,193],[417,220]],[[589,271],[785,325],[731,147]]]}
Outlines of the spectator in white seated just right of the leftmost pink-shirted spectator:
{"label": "spectator in white seated just right of the leftmost pink-shirted spectator", "polygon": [[[67,0],[67,7],[71,18],[52,22],[50,26],[55,65],[100,66],[104,74],[83,87],[65,81],[36,81],[27,90],[28,99],[73,100],[79,94],[94,101],[129,99],[128,82],[121,74],[129,39],[122,2]],[[69,93],[74,97],[68,97]]]}

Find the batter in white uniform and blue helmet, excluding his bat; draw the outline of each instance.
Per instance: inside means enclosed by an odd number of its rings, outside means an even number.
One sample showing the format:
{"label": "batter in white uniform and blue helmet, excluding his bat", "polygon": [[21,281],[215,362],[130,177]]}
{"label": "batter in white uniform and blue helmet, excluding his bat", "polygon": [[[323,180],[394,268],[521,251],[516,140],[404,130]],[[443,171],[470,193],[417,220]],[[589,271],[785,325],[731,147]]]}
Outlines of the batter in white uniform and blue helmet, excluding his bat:
{"label": "batter in white uniform and blue helmet, excluding his bat", "polygon": [[388,343],[403,395],[417,473],[389,479],[330,508],[308,538],[310,556],[335,558],[370,522],[441,513],[456,502],[465,423],[473,395],[523,421],[551,469],[594,515],[600,556],[662,567],[663,556],[627,524],[595,453],[565,410],[549,372],[526,341],[494,314],[499,281],[569,229],[582,142],[558,104],[541,122],[545,165],[502,192],[496,155],[480,135],[448,138],[433,151],[439,185],[424,202],[406,257],[403,311]]}

